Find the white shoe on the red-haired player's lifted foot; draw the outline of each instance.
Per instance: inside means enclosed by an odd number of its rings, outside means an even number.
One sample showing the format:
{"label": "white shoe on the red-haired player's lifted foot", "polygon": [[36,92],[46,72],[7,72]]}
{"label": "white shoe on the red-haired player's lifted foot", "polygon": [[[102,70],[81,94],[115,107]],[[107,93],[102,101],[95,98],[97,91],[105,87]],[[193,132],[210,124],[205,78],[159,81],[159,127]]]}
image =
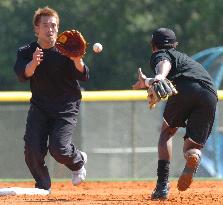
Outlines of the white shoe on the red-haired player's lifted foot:
{"label": "white shoe on the red-haired player's lifted foot", "polygon": [[[87,154],[85,152],[81,152],[81,155],[85,165],[87,163]],[[81,169],[72,172],[72,183],[74,186],[79,185],[86,178],[87,172],[84,165],[81,167]]]}

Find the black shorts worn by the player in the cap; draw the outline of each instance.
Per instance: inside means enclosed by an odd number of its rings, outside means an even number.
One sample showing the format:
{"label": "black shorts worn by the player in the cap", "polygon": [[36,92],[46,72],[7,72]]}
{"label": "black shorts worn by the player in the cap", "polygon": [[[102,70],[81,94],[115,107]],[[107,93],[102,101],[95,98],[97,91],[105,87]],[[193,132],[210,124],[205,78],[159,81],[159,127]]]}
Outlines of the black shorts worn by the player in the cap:
{"label": "black shorts worn by the player in the cap", "polygon": [[170,127],[186,127],[185,137],[203,146],[212,131],[217,96],[192,80],[181,80],[177,90],[167,101],[164,119]]}

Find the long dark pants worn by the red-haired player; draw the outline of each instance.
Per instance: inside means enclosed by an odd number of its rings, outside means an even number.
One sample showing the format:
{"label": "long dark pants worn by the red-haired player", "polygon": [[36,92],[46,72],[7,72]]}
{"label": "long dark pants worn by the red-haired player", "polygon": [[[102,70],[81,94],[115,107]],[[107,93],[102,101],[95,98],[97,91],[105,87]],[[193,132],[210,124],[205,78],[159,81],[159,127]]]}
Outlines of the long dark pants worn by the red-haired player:
{"label": "long dark pants worn by the red-haired player", "polygon": [[80,151],[72,144],[77,123],[80,101],[74,103],[73,112],[52,114],[31,104],[26,124],[25,161],[36,181],[36,187],[49,189],[51,180],[44,158],[49,150],[51,156],[70,170],[83,166]]}

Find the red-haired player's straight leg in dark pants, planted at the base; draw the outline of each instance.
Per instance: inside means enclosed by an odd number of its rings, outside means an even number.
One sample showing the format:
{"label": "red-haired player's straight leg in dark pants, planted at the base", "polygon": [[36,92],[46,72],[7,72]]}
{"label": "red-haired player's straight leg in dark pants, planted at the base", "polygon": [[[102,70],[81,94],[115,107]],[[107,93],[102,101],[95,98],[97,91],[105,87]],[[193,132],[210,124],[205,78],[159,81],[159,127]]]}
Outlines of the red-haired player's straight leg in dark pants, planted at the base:
{"label": "red-haired player's straight leg in dark pants, planted at the base", "polygon": [[51,180],[44,161],[47,154],[47,138],[47,119],[41,110],[31,104],[24,135],[25,161],[36,181],[35,186],[49,190]]}

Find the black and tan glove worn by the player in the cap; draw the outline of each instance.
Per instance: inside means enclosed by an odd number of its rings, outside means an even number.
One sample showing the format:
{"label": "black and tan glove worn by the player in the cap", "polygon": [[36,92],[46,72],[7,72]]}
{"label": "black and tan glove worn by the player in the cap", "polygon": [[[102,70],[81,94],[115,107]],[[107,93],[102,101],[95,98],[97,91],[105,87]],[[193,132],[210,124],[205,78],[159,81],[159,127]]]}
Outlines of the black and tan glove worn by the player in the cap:
{"label": "black and tan glove worn by the player in the cap", "polygon": [[176,95],[177,90],[168,79],[157,80],[147,90],[148,106],[150,109],[155,108],[160,100],[167,100],[169,96]]}

